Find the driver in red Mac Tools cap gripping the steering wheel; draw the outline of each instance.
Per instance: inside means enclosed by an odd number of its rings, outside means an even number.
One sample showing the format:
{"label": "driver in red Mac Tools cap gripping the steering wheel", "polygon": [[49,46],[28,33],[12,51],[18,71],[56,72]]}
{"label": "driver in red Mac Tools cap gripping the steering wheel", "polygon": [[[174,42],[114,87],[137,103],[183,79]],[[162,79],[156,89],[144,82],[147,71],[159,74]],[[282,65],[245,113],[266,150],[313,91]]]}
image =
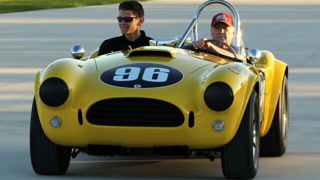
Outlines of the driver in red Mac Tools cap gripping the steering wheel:
{"label": "driver in red Mac Tools cap gripping the steering wheel", "polygon": [[[231,40],[235,34],[235,28],[233,27],[232,17],[227,13],[217,13],[211,20],[211,37],[212,39],[220,40],[222,42],[231,45]],[[216,42],[204,42],[207,40],[205,37],[201,38],[193,43],[194,47],[207,49],[219,54],[234,57],[230,49],[225,45],[220,45]],[[242,55],[237,54],[237,58],[242,58]]]}

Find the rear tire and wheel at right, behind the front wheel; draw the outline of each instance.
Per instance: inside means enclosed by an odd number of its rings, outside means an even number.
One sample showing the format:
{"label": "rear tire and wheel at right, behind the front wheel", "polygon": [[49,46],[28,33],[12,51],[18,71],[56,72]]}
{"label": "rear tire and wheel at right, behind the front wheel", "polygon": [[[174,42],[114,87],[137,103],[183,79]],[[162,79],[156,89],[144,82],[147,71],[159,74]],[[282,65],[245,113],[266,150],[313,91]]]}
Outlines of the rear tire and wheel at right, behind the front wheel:
{"label": "rear tire and wheel at right, behind the front wheel", "polygon": [[289,103],[288,82],[285,75],[281,88],[269,131],[260,138],[260,156],[281,156],[286,150],[288,141]]}

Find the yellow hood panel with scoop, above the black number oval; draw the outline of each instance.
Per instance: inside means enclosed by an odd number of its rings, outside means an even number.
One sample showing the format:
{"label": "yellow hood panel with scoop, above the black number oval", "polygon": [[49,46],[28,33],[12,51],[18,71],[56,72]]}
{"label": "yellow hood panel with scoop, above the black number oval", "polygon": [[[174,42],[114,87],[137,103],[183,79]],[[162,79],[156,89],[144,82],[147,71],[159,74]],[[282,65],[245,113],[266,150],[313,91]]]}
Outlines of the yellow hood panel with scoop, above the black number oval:
{"label": "yellow hood panel with scoop, above the black number oval", "polygon": [[[211,59],[210,59],[211,58]],[[212,58],[215,58],[212,60]],[[144,46],[122,52],[114,52],[95,58],[98,71],[130,63],[158,63],[172,66],[182,73],[191,73],[205,65],[218,63],[219,58],[208,57],[190,50],[167,46]]]}

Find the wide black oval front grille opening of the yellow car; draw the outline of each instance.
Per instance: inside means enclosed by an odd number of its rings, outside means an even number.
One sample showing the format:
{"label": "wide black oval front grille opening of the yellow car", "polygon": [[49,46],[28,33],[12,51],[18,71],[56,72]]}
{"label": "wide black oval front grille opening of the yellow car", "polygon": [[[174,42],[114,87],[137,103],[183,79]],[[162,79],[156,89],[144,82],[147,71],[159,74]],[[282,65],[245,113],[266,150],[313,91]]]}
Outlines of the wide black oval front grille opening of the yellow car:
{"label": "wide black oval front grille opening of the yellow car", "polygon": [[94,103],[86,119],[96,125],[175,127],[184,116],[175,105],[150,98],[111,98]]}

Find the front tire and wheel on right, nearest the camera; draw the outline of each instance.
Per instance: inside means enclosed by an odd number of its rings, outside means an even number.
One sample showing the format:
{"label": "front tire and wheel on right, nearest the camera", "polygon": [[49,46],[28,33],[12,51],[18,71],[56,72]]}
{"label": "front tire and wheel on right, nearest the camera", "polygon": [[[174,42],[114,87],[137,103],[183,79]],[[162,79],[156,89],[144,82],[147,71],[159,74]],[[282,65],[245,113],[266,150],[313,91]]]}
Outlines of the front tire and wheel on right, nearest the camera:
{"label": "front tire and wheel on right, nearest the camera", "polygon": [[253,89],[240,126],[232,140],[221,148],[221,165],[225,178],[251,179],[259,161],[259,105]]}

